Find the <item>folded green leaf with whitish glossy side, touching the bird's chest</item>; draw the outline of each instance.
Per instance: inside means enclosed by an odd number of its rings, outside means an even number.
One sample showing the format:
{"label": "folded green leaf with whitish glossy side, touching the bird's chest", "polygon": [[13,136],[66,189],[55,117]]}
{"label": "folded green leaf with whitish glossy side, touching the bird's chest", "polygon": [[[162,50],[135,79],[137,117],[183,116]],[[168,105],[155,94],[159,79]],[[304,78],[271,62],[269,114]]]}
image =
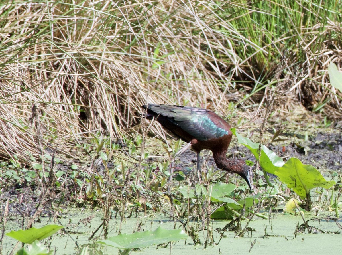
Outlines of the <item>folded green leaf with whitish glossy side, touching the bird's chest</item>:
{"label": "folded green leaf with whitish glossy side, touching the bird's chest", "polygon": [[235,128],[231,128],[231,131],[237,137],[238,142],[245,145],[257,159],[259,158],[259,147],[261,148],[260,166],[266,172],[274,174],[279,167],[284,165],[282,158],[277,156],[277,154],[275,154],[273,151],[269,150],[265,145],[261,144],[260,146],[260,143],[252,142],[249,138],[240,136],[236,132]]}

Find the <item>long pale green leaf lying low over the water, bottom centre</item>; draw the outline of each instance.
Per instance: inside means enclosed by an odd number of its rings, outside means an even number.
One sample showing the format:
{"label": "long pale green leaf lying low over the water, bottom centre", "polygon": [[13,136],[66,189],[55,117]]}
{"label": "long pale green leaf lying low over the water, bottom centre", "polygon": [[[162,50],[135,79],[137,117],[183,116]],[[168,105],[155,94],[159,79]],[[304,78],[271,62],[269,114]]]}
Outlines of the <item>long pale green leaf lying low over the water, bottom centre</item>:
{"label": "long pale green leaf lying low over the water, bottom centre", "polygon": [[113,246],[119,249],[133,249],[149,247],[153,244],[168,243],[186,239],[188,236],[183,230],[166,230],[158,227],[154,231],[135,232],[133,234],[119,234],[96,243]]}

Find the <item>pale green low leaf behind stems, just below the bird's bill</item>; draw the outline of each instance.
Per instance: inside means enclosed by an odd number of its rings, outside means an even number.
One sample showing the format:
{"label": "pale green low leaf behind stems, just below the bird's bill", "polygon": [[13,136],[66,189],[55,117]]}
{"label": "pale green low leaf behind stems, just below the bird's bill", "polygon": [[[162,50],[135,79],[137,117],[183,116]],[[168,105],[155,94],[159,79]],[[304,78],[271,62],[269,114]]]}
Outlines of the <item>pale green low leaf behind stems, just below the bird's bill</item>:
{"label": "pale green low leaf behind stems, just below the bird's bill", "polygon": [[220,201],[237,204],[234,199],[227,197],[227,195],[230,194],[235,188],[236,186],[231,183],[215,183],[210,184],[208,188],[204,185],[196,184],[196,193],[195,190],[189,186],[180,187],[178,190],[182,193],[185,199],[197,198],[197,196],[202,194],[203,196],[210,196],[210,201],[213,202]]}

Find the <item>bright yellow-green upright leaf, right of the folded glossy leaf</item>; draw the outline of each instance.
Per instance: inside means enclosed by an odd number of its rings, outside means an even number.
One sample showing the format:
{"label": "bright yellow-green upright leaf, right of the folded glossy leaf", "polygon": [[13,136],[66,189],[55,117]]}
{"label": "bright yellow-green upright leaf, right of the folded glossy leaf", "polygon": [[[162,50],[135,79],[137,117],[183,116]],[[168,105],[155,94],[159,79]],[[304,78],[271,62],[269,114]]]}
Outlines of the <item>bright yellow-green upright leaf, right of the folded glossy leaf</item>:
{"label": "bright yellow-green upright leaf, right of the folded glossy leaf", "polygon": [[326,181],[312,165],[303,165],[298,158],[290,158],[275,174],[295,193],[306,197],[310,190],[317,187],[329,189],[335,181]]}

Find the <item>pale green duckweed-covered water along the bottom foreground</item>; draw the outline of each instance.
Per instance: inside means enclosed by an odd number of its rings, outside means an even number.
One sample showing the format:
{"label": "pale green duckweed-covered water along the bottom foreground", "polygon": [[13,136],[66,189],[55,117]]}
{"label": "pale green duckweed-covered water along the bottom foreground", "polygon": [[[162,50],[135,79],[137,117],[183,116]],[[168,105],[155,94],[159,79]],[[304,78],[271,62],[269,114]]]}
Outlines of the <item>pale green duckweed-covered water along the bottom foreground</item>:
{"label": "pale green duckweed-covered water along the bottom foreground", "polygon": [[[143,214],[143,213],[142,213]],[[333,217],[331,212],[320,212],[321,215],[315,216],[313,213],[306,213],[305,219],[320,218],[325,216]],[[87,217],[91,219],[84,220]],[[36,223],[35,227],[39,228],[47,224],[57,224],[51,222],[50,218],[40,218],[42,222]],[[64,212],[60,219],[61,224],[66,227],[70,234],[70,237],[65,234],[54,234],[51,240],[43,241],[45,246],[50,245],[50,250],[56,251],[55,254],[78,254],[76,250],[75,242],[79,246],[89,244],[90,254],[118,254],[116,248],[105,247],[96,245],[96,248],[91,244],[94,240],[88,240],[93,231],[100,226],[102,222],[102,213],[99,211],[79,211],[68,210]],[[224,227],[229,221],[215,220],[212,221],[213,229]],[[154,254],[187,254],[187,255],[205,255],[205,254],[340,254],[342,250],[342,239],[340,234],[298,234],[294,235],[297,224],[302,224],[302,217],[297,214],[284,215],[283,213],[272,213],[271,219],[255,219],[249,223],[249,227],[255,229],[255,231],[248,232],[245,237],[234,238],[233,232],[225,232],[224,237],[219,244],[208,246],[204,249],[203,245],[194,245],[191,238],[175,242],[172,247],[168,245],[167,248],[158,247],[156,245],[148,248],[142,248],[140,251],[133,251],[132,254],[136,255],[154,255]],[[12,221],[6,226],[6,232],[11,229],[19,229],[19,226],[15,226],[19,221]],[[122,233],[132,233],[136,230],[137,225],[141,224],[141,231],[155,230],[157,227],[162,226],[165,229],[173,229],[176,225],[179,227],[179,223],[165,218],[162,214],[157,214],[152,217],[137,217],[124,219],[122,223]],[[244,227],[245,221],[242,221],[242,227]],[[342,220],[339,219],[339,224],[342,224]],[[109,237],[117,235],[117,230],[120,225],[120,219],[112,219],[109,221]],[[321,220],[309,221],[310,226],[315,226],[324,231],[342,232],[337,224],[332,221]],[[101,234],[101,230],[97,232],[95,238],[98,238]],[[203,234],[200,232],[199,237],[203,242]],[[101,239],[101,238],[100,238]],[[219,234],[214,231],[214,241],[219,241]],[[13,239],[5,236],[3,243],[3,254],[8,254],[12,249],[15,242]],[[251,248],[252,245],[252,248]],[[19,248],[19,247],[18,247]],[[95,252],[96,250],[96,252]]]}

